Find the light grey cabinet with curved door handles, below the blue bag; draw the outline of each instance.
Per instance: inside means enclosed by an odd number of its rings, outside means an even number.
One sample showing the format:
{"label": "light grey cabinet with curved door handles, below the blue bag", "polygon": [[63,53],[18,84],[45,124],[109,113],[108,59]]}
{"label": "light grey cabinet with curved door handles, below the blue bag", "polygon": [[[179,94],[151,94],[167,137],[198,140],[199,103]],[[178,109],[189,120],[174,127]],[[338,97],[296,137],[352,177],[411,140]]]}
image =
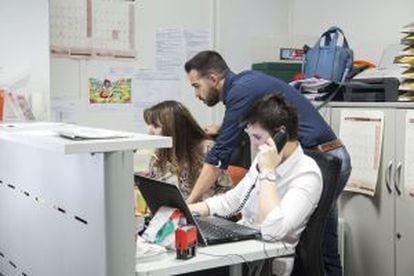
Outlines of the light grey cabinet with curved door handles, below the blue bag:
{"label": "light grey cabinet with curved door handles, below the blue bag", "polygon": [[[407,191],[408,183],[404,179],[405,170],[413,169],[404,163],[406,115],[413,107],[402,103],[329,105],[330,124],[336,133],[344,109],[384,112],[383,148],[375,196],[343,192],[339,200],[339,216],[346,223],[345,275],[413,275],[414,197]],[[357,162],[354,160],[354,163]]]}

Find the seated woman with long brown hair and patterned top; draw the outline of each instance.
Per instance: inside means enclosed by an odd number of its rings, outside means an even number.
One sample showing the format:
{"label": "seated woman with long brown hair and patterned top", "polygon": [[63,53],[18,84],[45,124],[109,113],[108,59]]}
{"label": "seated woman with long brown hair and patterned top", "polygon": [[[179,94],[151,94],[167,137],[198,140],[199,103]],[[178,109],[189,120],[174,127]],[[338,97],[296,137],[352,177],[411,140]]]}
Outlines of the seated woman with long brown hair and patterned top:
{"label": "seated woman with long brown hair and patterned top", "polygon": [[[187,198],[200,174],[205,155],[214,141],[203,131],[188,109],[177,101],[164,101],[144,110],[148,133],[172,137],[172,148],[157,149],[150,161],[150,176],[176,184]],[[203,196],[208,198],[231,188],[224,172]]]}

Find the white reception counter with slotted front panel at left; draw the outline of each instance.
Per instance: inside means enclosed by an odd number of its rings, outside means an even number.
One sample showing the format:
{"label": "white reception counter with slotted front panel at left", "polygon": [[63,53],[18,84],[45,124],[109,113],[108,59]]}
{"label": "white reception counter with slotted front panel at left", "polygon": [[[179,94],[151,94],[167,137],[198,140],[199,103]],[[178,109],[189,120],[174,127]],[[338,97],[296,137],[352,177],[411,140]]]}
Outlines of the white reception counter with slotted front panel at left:
{"label": "white reception counter with slotted front panel at left", "polygon": [[68,127],[0,124],[0,276],[135,273],[133,150],[171,138],[60,137]]}

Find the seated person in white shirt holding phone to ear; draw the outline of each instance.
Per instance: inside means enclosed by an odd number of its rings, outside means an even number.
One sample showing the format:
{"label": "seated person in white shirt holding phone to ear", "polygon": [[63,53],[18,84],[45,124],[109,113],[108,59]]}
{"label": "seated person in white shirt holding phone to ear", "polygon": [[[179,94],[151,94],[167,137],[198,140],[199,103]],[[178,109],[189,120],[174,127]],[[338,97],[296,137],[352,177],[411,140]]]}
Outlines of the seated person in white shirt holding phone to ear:
{"label": "seated person in white shirt holding phone to ear", "polygon": [[[191,204],[190,209],[204,216],[241,212],[239,223],[259,229],[262,239],[296,246],[322,192],[320,169],[298,142],[297,112],[282,96],[266,95],[243,124],[259,151],[248,173],[232,190]],[[272,139],[278,132],[287,136],[280,150]],[[290,275],[292,268],[293,259],[274,264],[277,275]]]}

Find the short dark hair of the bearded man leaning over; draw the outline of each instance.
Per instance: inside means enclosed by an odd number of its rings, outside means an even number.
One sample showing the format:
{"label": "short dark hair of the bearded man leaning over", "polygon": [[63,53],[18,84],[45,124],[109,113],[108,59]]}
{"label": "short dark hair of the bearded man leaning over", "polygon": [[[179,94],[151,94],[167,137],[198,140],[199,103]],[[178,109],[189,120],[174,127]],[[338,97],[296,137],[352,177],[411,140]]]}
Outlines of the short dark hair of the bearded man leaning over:
{"label": "short dark hair of the bearded man leaning over", "polygon": [[222,56],[215,51],[202,51],[192,57],[184,65],[184,69],[187,73],[191,70],[196,70],[200,76],[205,77],[208,74],[216,73],[224,78],[229,67],[222,58]]}

